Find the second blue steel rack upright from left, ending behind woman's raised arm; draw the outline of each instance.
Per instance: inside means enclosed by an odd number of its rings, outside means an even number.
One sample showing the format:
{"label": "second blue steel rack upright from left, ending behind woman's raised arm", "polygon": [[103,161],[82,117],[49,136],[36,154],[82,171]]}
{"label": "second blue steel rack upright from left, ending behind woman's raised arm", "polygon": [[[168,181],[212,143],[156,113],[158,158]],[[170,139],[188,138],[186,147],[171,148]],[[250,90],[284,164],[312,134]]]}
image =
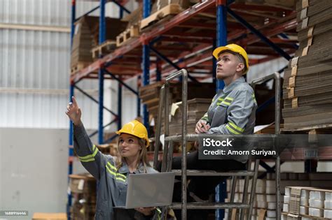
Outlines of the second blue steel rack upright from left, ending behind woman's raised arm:
{"label": "second blue steel rack upright from left, ending behind woman's raised arm", "polygon": [[[99,44],[105,41],[105,3],[106,0],[100,0],[100,15],[99,15]],[[98,143],[104,142],[104,66],[100,66],[98,71],[98,87],[99,87],[99,106],[98,106]]]}

